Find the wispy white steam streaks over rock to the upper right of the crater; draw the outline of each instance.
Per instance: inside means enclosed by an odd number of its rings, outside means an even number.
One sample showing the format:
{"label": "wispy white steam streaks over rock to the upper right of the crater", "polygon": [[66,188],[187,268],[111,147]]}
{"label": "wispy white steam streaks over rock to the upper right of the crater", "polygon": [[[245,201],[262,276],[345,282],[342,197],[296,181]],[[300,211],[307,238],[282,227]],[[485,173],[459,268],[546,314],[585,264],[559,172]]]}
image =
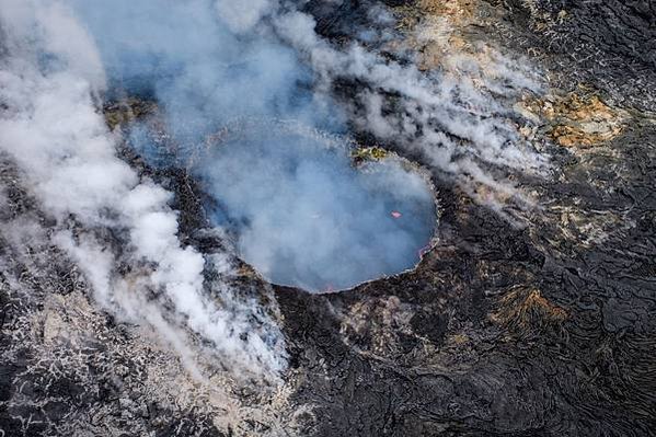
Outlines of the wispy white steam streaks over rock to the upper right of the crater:
{"label": "wispy white steam streaks over rock to the upper right of the crater", "polygon": [[[276,30],[304,54],[321,89],[336,78],[357,80],[359,94],[350,103],[350,117],[362,130],[408,151],[417,151],[441,176],[449,177],[475,199],[498,208],[476,192],[517,194],[507,180],[494,177],[490,166],[510,172],[541,173],[546,166],[517,134],[511,110],[503,105],[521,92],[538,92],[537,74],[520,60],[488,49],[486,65],[473,56],[447,59],[461,73],[426,73],[415,64],[401,65],[357,43],[335,49],[314,34],[314,20],[300,12],[277,16]],[[438,36],[423,31],[419,39]]]}

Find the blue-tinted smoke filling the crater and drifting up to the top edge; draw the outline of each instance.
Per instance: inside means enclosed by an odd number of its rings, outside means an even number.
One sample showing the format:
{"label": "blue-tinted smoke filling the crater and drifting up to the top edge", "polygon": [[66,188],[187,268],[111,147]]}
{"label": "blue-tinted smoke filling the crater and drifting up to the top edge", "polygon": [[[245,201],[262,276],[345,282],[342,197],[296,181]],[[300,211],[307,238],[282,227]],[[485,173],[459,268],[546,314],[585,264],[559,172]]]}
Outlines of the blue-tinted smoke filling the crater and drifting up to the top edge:
{"label": "blue-tinted smoke filling the crater and drifting up to the top edge", "polygon": [[[413,267],[436,221],[428,184],[392,160],[353,170],[347,140],[327,150],[315,130],[345,130],[344,114],[329,90],[313,90],[312,72],[267,24],[281,9],[266,4],[243,12],[219,2],[214,19],[208,1],[171,3],[174,14],[149,2],[83,2],[79,11],[110,79],[130,94],[154,94],[163,108],[166,131],[136,123],[133,145],[152,162],[188,165],[221,204],[240,254],[265,277],[325,291]],[[290,119],[295,133],[284,131]]]}

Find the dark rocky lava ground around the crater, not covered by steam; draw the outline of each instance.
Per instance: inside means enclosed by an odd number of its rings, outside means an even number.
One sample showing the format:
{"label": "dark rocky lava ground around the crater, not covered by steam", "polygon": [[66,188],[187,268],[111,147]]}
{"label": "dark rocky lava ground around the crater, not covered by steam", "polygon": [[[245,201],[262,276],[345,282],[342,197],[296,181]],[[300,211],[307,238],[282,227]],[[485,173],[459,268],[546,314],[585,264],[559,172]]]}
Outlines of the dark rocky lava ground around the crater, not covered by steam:
{"label": "dark rocky lava ground around the crater, not covered by steam", "polygon": [[[656,435],[656,3],[385,7],[423,70],[461,74],[453,54],[485,69],[487,46],[540,68],[543,90],[510,102],[522,138],[550,157],[545,176],[508,176],[531,206],[495,210],[476,199],[498,193],[472,196],[436,171],[436,245],[413,272],[311,295],[240,264],[233,280],[271,306],[289,366],[280,381],[204,380],[149,329],[94,306],[0,157],[0,437]],[[304,5],[336,42],[368,25],[369,8]],[[448,33],[416,39],[418,25]],[[153,112],[104,105],[112,128]],[[362,146],[429,168],[354,128]],[[129,145],[120,157],[175,194],[181,241],[222,244],[184,169],[153,169]]]}

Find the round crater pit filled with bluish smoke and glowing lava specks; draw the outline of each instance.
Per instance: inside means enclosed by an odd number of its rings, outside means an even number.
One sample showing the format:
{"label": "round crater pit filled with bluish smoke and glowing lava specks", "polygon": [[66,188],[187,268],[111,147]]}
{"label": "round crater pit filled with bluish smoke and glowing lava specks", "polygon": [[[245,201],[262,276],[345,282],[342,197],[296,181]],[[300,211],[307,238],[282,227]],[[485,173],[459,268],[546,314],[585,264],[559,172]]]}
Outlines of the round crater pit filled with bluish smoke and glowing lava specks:
{"label": "round crater pit filled with bluish smoke and glowing lava specks", "polygon": [[334,291],[418,263],[436,208],[415,169],[392,158],[356,169],[343,138],[280,123],[246,126],[222,138],[199,170],[239,252],[264,276]]}

